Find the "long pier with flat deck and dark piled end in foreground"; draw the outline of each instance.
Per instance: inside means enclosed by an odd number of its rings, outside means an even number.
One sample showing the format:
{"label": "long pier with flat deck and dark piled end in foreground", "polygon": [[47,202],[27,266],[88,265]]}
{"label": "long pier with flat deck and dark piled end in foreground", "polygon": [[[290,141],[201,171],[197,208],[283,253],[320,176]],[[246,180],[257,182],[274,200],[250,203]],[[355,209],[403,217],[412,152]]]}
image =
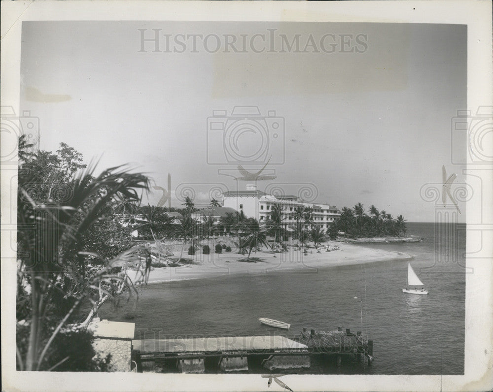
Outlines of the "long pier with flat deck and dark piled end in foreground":
{"label": "long pier with flat deck and dark piled end in foreground", "polygon": [[339,327],[280,335],[133,340],[134,371],[216,373],[309,369],[311,361],[341,365],[342,359],[373,362],[373,341]]}

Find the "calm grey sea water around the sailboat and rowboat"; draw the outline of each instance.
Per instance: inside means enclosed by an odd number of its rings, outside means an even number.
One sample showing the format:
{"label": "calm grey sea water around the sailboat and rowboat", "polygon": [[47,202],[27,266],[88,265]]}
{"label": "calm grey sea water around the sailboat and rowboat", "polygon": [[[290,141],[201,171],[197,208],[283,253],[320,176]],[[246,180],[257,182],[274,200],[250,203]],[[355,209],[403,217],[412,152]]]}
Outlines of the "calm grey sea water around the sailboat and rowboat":
{"label": "calm grey sea water around the sailboat and rowboat", "polygon": [[[461,263],[435,263],[434,224],[409,223],[420,243],[365,244],[412,255],[429,295],[403,294],[408,261],[328,267],[318,273],[215,277],[142,289],[137,304],[105,306],[100,317],[130,321],[136,338],[281,334],[303,327],[361,330],[374,341],[374,363],[346,364],[343,373],[463,374],[465,270]],[[358,245],[359,246],[359,245]],[[465,238],[458,251],[465,252]],[[358,299],[354,299],[357,296]],[[363,298],[362,302],[358,302]],[[261,325],[269,317],[290,323],[289,331]],[[332,372],[313,366],[309,372]]]}

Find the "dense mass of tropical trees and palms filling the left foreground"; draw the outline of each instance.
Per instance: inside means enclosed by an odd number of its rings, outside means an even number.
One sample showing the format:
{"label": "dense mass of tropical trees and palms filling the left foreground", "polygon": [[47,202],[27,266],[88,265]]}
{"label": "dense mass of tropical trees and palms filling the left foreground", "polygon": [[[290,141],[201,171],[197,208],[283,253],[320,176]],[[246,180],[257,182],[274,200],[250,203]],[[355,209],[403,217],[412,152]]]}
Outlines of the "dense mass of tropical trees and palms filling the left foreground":
{"label": "dense mass of tropical trees and palms filling the left foreground", "polygon": [[[17,368],[102,370],[106,359],[85,361],[86,366],[80,366],[68,347],[80,343],[87,348],[81,343],[86,339],[84,332],[70,332],[72,343],[67,344],[65,329],[69,323],[83,321],[82,326],[87,325],[107,299],[124,291],[136,293],[136,282],[129,279],[125,266],[129,261],[138,262],[139,256],[145,260],[148,252],[141,247],[129,249],[127,239],[122,239],[124,233],[115,235],[110,217],[117,200],[138,203],[138,192],[148,190],[148,179],[125,166],[96,175],[95,164],[87,167],[81,154],[65,143],[56,154],[24,150],[28,147],[21,140]],[[145,267],[142,269],[141,280],[146,276]],[[92,304],[89,314],[80,313],[84,303]],[[67,355],[60,358],[61,353]]]}

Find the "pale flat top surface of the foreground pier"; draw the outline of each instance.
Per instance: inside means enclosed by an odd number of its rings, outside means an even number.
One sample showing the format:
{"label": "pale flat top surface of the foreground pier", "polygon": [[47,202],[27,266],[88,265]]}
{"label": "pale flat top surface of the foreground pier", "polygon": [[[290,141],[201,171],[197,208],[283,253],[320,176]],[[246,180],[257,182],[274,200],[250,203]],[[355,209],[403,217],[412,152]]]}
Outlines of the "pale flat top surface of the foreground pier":
{"label": "pale flat top surface of the foreground pier", "polygon": [[142,339],[132,341],[141,353],[216,352],[249,350],[308,349],[284,336],[226,336],[188,339]]}

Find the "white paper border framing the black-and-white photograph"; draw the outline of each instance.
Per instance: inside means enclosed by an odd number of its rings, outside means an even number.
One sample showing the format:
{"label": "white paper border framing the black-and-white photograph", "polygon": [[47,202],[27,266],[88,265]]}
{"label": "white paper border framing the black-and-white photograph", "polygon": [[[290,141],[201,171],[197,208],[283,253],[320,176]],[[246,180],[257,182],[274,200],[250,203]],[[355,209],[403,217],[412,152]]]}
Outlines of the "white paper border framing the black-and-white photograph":
{"label": "white paper border framing the black-and-white photograph", "polygon": [[[23,21],[309,21],[435,23],[467,25],[467,107],[493,105],[491,1],[1,1],[1,101],[19,109],[21,27]],[[63,32],[62,32],[63,33]],[[4,135],[2,135],[4,137]],[[5,143],[1,144],[2,150]],[[493,149],[493,146],[490,146]],[[490,150],[491,151],[491,150]],[[2,151],[3,152],[3,151]],[[492,154],[490,154],[491,156]],[[493,385],[493,185],[492,165],[470,161],[465,175],[482,180],[482,205],[467,204],[467,217],[482,222],[480,258],[467,259],[464,375],[286,375],[294,391],[478,391]],[[16,192],[10,189],[16,171],[1,170],[1,366],[5,391],[262,391],[258,374],[183,375],[135,373],[17,372],[15,365],[15,254],[8,230],[15,235]],[[481,212],[482,211],[482,212]],[[10,221],[9,221],[10,219]],[[273,390],[280,390],[272,386]]]}

